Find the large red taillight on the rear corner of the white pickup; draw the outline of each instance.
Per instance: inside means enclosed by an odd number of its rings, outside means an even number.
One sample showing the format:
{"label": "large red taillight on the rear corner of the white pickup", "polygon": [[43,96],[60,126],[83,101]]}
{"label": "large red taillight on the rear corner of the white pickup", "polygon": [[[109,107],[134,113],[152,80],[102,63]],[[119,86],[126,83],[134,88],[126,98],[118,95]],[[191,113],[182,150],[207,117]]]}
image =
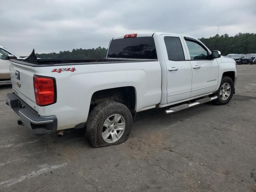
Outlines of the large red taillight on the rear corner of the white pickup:
{"label": "large red taillight on the rear corner of the white pickup", "polygon": [[55,79],[34,75],[36,104],[45,106],[56,102]]}

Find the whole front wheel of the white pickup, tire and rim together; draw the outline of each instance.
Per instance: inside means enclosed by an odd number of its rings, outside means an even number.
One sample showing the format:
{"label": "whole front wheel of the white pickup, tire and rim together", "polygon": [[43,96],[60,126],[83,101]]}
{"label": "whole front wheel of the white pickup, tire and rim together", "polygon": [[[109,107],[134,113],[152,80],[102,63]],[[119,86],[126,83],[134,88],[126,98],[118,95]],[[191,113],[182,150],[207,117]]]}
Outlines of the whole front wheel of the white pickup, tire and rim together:
{"label": "whole front wheel of the white pickup, tire and rim together", "polygon": [[217,92],[218,98],[214,102],[218,105],[225,105],[232,99],[234,94],[234,82],[228,76],[223,76]]}

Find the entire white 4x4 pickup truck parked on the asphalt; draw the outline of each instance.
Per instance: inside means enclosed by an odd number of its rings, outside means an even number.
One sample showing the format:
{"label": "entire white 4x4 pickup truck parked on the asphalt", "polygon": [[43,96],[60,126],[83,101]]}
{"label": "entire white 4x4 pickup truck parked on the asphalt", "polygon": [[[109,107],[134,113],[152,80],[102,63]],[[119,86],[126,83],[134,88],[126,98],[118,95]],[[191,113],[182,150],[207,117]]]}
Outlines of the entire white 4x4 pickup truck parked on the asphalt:
{"label": "entire white 4x4 pickup truck parked on the asphalt", "polygon": [[180,34],[116,36],[104,59],[37,60],[32,53],[10,63],[6,104],[18,124],[35,134],[84,128],[92,147],[124,142],[136,112],[227,104],[236,84],[233,59]]}

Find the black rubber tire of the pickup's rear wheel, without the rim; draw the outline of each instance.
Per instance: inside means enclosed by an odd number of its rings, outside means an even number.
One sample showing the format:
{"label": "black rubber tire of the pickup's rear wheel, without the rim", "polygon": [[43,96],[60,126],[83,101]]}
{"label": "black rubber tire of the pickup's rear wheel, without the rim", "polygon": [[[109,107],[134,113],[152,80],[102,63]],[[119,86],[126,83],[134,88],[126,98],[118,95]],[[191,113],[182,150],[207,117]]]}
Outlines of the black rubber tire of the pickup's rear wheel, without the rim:
{"label": "black rubber tire of the pickup's rear wheel, without the rim", "polygon": [[[112,114],[120,114],[125,119],[125,130],[122,136],[113,143],[102,139],[102,128],[105,120]],[[122,103],[117,101],[106,101],[96,106],[88,116],[86,122],[86,137],[92,147],[105,147],[117,145],[127,140],[132,130],[132,114]]]}

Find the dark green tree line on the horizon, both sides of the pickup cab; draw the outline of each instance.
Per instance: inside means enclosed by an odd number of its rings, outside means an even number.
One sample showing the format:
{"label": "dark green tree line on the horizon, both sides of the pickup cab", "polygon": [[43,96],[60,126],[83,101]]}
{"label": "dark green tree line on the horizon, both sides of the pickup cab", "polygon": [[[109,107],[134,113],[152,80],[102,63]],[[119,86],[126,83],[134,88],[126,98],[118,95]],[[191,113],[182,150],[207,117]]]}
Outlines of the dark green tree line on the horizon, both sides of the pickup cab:
{"label": "dark green tree line on the horizon, both sides of the pickup cab", "polygon": [[[215,35],[210,38],[199,38],[210,50],[219,50],[222,55],[230,53],[248,54],[256,53],[256,34],[239,33],[235,36]],[[106,58],[108,49],[98,47],[96,49],[73,49],[72,51],[60,51],[59,53],[36,54],[38,58]]]}

